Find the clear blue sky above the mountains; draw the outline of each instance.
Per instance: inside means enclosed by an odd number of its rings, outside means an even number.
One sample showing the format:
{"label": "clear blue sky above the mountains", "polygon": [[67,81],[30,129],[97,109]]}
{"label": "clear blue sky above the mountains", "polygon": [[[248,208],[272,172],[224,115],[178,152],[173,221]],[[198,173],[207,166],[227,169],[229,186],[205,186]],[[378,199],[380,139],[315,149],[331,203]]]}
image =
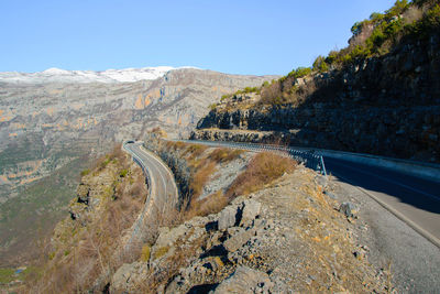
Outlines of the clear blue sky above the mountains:
{"label": "clear blue sky above the mountains", "polygon": [[197,66],[287,74],[394,0],[1,0],[0,72]]}

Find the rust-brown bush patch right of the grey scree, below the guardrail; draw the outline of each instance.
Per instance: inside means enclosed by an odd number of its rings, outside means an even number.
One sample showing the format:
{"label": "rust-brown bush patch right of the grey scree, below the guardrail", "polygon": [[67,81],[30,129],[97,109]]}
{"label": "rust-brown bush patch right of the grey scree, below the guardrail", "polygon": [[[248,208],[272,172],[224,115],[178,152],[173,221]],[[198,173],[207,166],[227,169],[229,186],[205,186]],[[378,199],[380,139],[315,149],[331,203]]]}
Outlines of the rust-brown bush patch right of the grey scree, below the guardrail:
{"label": "rust-brown bush patch right of the grey scree, below the guardrail", "polygon": [[296,165],[294,160],[271,152],[258,153],[251,160],[248,168],[231,184],[226,197],[232,199],[239,195],[253,193],[284,173],[292,173]]}

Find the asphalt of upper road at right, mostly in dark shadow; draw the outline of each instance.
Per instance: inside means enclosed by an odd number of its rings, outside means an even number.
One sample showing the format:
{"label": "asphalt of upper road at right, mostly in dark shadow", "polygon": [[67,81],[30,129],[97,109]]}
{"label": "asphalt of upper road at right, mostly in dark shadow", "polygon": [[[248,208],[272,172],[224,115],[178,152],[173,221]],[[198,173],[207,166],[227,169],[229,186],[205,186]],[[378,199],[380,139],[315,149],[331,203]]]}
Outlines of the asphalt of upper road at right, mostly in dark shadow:
{"label": "asphalt of upper road at right, mostly in dark shadow", "polygon": [[328,173],[362,188],[440,244],[440,183],[339,159],[324,156],[324,163]]}

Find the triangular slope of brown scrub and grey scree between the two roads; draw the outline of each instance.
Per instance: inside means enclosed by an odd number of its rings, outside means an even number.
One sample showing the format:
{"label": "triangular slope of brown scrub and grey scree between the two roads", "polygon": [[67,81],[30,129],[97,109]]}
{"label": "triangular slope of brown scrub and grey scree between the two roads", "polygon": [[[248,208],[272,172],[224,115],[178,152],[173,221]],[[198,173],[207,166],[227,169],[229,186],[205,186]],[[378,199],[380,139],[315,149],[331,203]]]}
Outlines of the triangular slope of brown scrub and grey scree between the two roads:
{"label": "triangular slope of brown scrub and grey scree between the two roads", "polygon": [[[296,166],[293,160],[272,153],[251,156],[242,150],[173,141],[160,141],[155,149],[165,161],[170,161],[170,153],[174,153],[172,157],[184,159],[187,165],[177,168],[190,171],[188,178],[180,179],[188,182],[182,199],[183,219],[218,213],[237,196],[255,192],[284,173],[293,172]],[[182,173],[177,168],[174,168],[175,173]],[[223,173],[230,175],[213,188],[206,188]]]}

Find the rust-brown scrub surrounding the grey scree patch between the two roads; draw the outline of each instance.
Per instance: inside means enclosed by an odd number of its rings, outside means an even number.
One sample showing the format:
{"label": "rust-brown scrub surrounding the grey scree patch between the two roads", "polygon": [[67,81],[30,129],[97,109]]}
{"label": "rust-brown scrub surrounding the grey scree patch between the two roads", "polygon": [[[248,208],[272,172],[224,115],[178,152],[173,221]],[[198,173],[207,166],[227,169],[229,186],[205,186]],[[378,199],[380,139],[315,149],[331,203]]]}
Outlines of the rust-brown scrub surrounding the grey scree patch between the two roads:
{"label": "rust-brown scrub surrounding the grey scree patch between the two roads", "polygon": [[245,154],[245,151],[228,148],[212,149],[201,144],[170,141],[166,142],[166,149],[178,151],[186,159],[191,170],[189,195],[186,196],[180,211],[183,220],[219,213],[237,196],[248,195],[262,188],[283,174],[292,173],[297,165],[295,161],[274,153],[257,153],[249,161],[244,171],[237,175],[229,187],[199,199],[204,186],[212,179],[212,175],[217,171],[222,168],[222,164],[239,160]]}

